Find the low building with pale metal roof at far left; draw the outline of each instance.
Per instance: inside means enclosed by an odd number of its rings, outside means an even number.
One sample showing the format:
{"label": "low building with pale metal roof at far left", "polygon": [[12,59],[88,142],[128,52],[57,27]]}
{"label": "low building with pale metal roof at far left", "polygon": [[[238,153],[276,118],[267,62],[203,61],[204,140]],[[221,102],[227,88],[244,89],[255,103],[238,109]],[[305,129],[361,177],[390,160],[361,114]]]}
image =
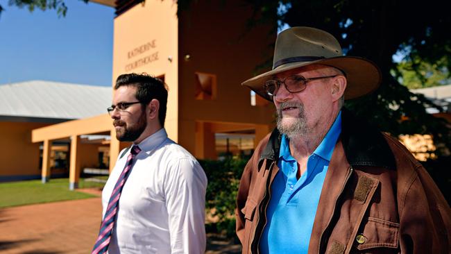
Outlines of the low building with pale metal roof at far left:
{"label": "low building with pale metal roof at far left", "polygon": [[[42,145],[31,142],[31,130],[103,114],[111,98],[111,87],[50,81],[0,85],[0,182],[41,178]],[[105,137],[95,144],[93,138],[81,137],[81,156],[85,166],[98,167],[99,153],[108,154],[101,144]],[[46,166],[53,176],[66,173],[69,142],[57,139],[53,144]]]}

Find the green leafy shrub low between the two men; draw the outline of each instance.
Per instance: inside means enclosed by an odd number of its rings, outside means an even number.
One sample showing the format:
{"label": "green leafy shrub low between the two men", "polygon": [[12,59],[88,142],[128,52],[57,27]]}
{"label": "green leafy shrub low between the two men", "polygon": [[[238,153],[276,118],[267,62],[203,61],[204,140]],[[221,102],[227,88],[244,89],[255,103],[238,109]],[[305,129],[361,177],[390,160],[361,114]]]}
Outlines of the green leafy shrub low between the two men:
{"label": "green leafy shrub low between the two men", "polygon": [[[212,231],[235,235],[235,208],[239,179],[247,160],[199,160],[208,178],[205,207],[218,222]],[[210,226],[211,228],[212,226]],[[207,227],[208,228],[208,227]]]}

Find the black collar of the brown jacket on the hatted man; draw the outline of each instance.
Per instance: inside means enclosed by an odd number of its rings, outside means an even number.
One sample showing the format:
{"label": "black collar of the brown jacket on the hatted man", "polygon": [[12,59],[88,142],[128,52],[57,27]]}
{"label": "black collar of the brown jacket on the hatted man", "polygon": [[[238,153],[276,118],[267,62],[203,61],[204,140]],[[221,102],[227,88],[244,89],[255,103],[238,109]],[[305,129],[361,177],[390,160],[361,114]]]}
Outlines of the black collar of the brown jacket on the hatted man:
{"label": "black collar of the brown jacket on the hatted man", "polygon": [[[382,133],[363,119],[352,115],[346,108],[341,110],[340,138],[346,159],[352,167],[371,166],[396,169],[395,158]],[[278,160],[280,142],[280,132],[275,128],[262,152],[259,167],[264,159]]]}

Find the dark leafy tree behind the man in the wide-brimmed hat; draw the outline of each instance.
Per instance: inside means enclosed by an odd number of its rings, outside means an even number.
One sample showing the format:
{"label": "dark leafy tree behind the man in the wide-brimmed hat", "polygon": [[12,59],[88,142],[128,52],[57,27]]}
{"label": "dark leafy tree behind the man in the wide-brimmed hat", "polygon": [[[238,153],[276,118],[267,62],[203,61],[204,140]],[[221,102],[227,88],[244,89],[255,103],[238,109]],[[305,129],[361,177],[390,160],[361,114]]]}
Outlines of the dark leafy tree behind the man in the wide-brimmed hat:
{"label": "dark leafy tree behind the man in the wide-brimmed hat", "polygon": [[[337,37],[346,55],[376,62],[382,71],[382,85],[373,94],[347,101],[348,108],[395,136],[432,134],[434,142],[445,144],[436,153],[448,153],[451,129],[443,119],[427,114],[425,108],[435,107],[431,101],[412,94],[400,84],[403,72],[398,69],[393,56],[404,56],[405,66],[415,74],[422,74],[425,66],[445,70],[442,75],[448,80],[451,66],[450,1],[247,2],[255,9],[254,24],[269,21],[279,25],[320,28]],[[427,78],[423,76],[421,81]]]}

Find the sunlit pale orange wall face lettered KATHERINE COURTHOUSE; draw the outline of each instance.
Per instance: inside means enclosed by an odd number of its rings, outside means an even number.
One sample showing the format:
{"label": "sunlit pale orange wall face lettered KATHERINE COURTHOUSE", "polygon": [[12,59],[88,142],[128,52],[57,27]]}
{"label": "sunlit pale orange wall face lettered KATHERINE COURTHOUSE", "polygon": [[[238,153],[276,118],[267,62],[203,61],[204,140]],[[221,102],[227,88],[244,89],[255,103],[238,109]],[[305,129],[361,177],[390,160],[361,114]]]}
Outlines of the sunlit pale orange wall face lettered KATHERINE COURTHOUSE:
{"label": "sunlit pale orange wall face lettered KATHERINE COURTHOUSE", "polygon": [[113,83],[124,73],[164,75],[169,86],[165,127],[178,140],[178,19],[173,1],[148,0],[114,19]]}

